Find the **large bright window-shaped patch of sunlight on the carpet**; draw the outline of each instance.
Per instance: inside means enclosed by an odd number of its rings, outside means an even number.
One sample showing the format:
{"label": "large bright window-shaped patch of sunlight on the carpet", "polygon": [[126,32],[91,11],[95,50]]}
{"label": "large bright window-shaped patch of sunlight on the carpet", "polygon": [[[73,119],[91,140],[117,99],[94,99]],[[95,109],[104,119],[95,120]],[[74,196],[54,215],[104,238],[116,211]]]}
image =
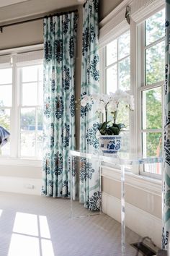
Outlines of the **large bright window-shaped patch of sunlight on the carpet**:
{"label": "large bright window-shaped patch of sunlight on the carpet", "polygon": [[16,213],[8,256],[23,255],[54,256],[46,216]]}

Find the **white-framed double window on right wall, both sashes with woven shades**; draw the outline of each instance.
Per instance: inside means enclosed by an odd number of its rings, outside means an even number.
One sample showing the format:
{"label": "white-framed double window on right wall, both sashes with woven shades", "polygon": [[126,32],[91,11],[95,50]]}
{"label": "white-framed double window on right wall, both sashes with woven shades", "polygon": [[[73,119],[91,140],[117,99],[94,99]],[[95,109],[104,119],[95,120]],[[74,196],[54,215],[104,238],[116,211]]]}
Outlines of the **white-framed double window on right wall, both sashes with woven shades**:
{"label": "white-framed double window on right wall, both sashes with woven shades", "polygon": [[[138,4],[140,4],[140,1]],[[124,146],[139,157],[161,156],[163,147],[164,4],[130,4],[130,25],[125,9],[113,10],[101,22],[101,90],[120,88],[135,97],[135,111],[120,110],[118,120],[126,125]],[[159,8],[159,9],[158,9]],[[121,14],[121,15],[120,15]],[[117,20],[118,19],[118,20]],[[104,85],[104,86],[103,86]],[[126,149],[123,148],[123,149]],[[132,169],[135,174],[161,178],[161,164]]]}

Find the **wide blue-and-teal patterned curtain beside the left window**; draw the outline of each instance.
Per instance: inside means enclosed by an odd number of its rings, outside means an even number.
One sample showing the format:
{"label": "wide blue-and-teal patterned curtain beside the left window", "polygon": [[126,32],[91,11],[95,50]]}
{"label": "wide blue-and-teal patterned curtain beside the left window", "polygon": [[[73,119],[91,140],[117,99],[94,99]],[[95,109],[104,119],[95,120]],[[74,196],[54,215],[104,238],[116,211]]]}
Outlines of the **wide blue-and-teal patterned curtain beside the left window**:
{"label": "wide blue-and-teal patterned curtain beside the left window", "polygon": [[76,12],[44,19],[42,195],[69,197],[69,150],[75,149]]}

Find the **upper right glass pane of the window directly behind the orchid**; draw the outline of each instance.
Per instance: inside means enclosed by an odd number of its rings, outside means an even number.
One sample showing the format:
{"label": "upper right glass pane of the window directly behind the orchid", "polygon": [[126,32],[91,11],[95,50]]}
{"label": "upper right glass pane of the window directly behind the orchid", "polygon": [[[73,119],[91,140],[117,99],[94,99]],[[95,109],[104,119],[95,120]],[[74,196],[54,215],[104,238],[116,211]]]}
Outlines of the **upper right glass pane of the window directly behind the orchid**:
{"label": "upper right glass pane of the window directly behind the orchid", "polygon": [[120,35],[119,42],[119,59],[130,54],[130,31]]}

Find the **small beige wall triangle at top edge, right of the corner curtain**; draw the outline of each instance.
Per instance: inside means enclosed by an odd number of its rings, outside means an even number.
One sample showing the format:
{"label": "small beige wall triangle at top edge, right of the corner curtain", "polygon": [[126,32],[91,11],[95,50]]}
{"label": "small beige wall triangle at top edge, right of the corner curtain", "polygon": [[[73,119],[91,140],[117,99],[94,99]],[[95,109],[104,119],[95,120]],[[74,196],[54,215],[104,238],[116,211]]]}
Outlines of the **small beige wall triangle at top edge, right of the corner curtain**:
{"label": "small beige wall triangle at top edge, right of the corner curtain", "polygon": [[121,2],[122,0],[99,0],[99,21],[103,20]]}

